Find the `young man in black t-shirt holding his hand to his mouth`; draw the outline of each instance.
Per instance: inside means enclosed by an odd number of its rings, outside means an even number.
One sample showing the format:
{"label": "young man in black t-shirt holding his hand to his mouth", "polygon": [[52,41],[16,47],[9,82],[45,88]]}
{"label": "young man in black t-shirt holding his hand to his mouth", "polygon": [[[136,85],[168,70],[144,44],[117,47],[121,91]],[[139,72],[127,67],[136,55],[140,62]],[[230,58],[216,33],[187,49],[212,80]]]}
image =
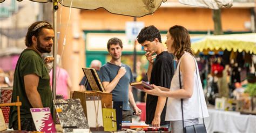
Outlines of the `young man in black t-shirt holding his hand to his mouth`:
{"label": "young man in black t-shirt holding his hand to his mouth", "polygon": [[[147,78],[150,84],[170,88],[170,81],[174,75],[173,55],[169,54],[162,44],[159,30],[154,26],[144,27],[137,40],[144,47],[145,56],[149,61]],[[166,97],[147,94],[146,124],[151,124],[153,127],[168,127],[170,122],[165,121],[165,112]]]}

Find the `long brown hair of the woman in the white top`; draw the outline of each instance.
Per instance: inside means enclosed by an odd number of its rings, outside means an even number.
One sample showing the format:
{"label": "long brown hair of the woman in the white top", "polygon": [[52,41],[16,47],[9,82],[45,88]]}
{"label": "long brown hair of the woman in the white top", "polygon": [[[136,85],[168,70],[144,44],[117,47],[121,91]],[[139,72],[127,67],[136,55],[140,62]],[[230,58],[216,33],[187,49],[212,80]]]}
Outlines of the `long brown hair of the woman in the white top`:
{"label": "long brown hair of the woman in the white top", "polygon": [[175,55],[178,60],[185,51],[194,56],[194,52],[191,49],[190,34],[185,27],[174,25],[169,29],[169,33],[173,38],[173,55]]}

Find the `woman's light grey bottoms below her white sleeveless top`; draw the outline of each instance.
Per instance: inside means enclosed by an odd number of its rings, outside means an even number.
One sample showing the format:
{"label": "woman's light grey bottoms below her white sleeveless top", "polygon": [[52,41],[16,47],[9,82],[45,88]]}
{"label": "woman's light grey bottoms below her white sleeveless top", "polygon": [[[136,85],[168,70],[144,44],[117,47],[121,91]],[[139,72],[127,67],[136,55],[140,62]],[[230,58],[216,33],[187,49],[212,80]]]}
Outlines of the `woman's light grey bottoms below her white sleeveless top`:
{"label": "woman's light grey bottoms below her white sleeveless top", "polygon": [[[171,131],[172,133],[183,133],[183,124],[182,120],[180,121],[171,121]],[[193,125],[193,124],[198,124],[198,119],[193,119],[193,120],[184,120],[184,127]]]}

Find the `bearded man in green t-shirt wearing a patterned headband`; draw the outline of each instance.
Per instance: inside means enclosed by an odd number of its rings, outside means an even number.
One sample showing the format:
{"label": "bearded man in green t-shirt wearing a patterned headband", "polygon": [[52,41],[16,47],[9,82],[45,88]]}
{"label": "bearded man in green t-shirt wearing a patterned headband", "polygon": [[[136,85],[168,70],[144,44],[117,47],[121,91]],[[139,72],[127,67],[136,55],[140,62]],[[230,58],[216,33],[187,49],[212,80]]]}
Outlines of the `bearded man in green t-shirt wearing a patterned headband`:
{"label": "bearded man in green t-shirt wearing a patterned headband", "polygon": [[[26,34],[27,48],[22,51],[14,73],[14,88],[11,102],[22,102],[21,129],[36,131],[30,108],[52,107],[50,76],[45,63],[52,61],[42,58],[43,53],[50,53],[53,45],[54,31],[46,21],[33,23]],[[52,109],[52,108],[51,108]],[[11,107],[9,128],[18,130],[17,107]]]}

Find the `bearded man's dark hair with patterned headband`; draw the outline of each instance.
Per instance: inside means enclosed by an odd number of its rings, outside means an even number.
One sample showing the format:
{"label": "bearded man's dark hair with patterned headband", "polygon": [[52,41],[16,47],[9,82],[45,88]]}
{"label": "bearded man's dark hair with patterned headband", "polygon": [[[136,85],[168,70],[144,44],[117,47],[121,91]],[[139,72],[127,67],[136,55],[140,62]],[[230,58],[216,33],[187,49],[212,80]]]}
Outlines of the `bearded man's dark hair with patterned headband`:
{"label": "bearded man's dark hair with patterned headband", "polygon": [[32,45],[32,36],[35,35],[37,38],[39,35],[41,35],[43,28],[53,29],[48,21],[37,21],[29,26],[25,37],[25,44],[27,47]]}

